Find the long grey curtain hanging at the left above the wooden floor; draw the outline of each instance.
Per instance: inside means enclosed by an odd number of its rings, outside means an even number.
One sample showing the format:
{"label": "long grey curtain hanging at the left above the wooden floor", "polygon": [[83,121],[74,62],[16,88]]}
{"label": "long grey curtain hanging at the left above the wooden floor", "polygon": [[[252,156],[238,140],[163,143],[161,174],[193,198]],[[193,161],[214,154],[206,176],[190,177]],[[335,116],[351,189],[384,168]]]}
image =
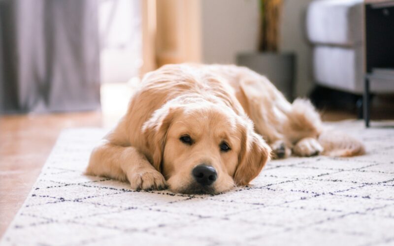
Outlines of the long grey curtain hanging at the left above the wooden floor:
{"label": "long grey curtain hanging at the left above the wooden floor", "polygon": [[0,113],[93,110],[97,0],[0,0]]}

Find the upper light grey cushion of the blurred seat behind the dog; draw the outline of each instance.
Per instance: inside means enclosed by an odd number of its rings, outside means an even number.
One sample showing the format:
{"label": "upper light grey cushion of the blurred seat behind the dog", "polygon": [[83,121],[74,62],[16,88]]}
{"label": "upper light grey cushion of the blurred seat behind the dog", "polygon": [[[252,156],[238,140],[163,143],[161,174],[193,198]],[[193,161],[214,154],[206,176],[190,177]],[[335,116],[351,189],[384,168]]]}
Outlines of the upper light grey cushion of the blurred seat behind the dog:
{"label": "upper light grey cushion of the blurred seat behind the dog", "polygon": [[363,0],[315,0],[306,14],[312,43],[351,46],[362,40]]}

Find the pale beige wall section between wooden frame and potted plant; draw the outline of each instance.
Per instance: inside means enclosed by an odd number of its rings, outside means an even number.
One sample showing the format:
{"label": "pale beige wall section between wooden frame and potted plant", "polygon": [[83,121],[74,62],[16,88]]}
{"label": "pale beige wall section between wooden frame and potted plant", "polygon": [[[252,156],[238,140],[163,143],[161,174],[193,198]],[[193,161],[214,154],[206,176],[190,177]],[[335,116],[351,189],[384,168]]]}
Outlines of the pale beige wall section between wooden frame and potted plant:
{"label": "pale beige wall section between wooden frame and potted plant", "polygon": [[202,62],[235,63],[241,51],[256,50],[258,0],[201,0]]}

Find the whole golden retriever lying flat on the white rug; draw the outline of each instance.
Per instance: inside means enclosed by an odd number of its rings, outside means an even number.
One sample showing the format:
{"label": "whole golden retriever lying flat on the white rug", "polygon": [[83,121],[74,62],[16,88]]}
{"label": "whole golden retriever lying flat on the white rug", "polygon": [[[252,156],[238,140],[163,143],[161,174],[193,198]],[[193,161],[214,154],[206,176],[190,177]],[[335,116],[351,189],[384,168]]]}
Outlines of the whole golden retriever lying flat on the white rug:
{"label": "whole golden retriever lying flat on the white rug", "polygon": [[248,68],[171,64],[144,76],[86,173],[132,189],[217,194],[249,184],[271,155],[363,151],[359,141],[325,131],[308,100],[288,102]]}

